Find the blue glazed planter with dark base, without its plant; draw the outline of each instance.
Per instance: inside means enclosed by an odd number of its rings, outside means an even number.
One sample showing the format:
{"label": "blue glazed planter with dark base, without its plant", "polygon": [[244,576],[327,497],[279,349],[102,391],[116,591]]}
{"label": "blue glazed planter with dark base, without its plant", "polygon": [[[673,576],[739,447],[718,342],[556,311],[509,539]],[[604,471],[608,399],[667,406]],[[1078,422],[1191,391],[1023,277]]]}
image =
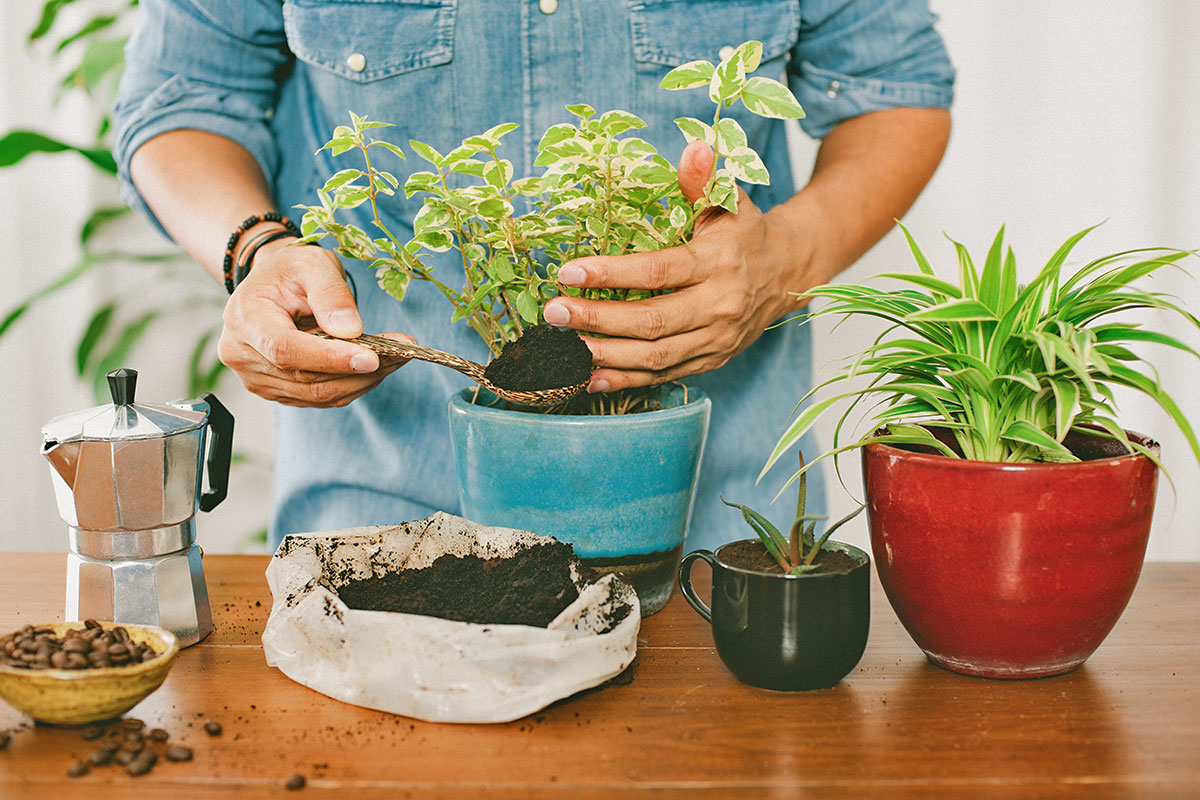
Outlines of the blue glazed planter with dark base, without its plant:
{"label": "blue glazed planter with dark base, without its plant", "polygon": [[570,542],[653,614],[671,597],[708,435],[712,401],[684,393],[664,389],[658,411],[554,416],[476,405],[463,390],[449,409],[462,516]]}

